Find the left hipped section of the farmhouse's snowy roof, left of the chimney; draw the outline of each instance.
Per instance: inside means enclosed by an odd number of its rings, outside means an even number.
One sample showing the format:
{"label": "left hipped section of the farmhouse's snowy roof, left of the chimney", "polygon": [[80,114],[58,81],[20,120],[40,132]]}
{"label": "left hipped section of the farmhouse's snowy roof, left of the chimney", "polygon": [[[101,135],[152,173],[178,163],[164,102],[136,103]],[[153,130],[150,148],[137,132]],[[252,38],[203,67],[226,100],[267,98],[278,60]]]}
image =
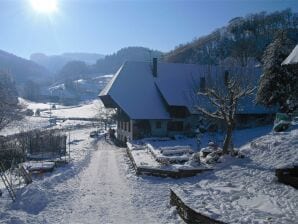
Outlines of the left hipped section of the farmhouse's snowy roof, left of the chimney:
{"label": "left hipped section of the farmhouse's snowy roof, left of the chimney", "polygon": [[99,96],[111,96],[132,119],[170,119],[153,79],[149,63],[126,62]]}

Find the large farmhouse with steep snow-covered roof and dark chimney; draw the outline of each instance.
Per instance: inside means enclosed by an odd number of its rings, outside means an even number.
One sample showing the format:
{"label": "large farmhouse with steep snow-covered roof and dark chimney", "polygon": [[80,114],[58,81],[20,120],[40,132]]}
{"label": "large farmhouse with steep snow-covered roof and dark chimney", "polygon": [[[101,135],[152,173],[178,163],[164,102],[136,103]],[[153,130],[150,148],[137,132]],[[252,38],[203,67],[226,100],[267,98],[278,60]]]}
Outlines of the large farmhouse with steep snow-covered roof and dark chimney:
{"label": "large farmhouse with steep snow-covered roof and dark chimney", "polygon": [[[220,69],[157,59],[124,63],[99,94],[105,107],[117,108],[118,140],[191,133],[197,125],[195,106],[204,103],[194,89],[204,88],[210,74]],[[268,111],[250,102],[240,106],[239,113]]]}

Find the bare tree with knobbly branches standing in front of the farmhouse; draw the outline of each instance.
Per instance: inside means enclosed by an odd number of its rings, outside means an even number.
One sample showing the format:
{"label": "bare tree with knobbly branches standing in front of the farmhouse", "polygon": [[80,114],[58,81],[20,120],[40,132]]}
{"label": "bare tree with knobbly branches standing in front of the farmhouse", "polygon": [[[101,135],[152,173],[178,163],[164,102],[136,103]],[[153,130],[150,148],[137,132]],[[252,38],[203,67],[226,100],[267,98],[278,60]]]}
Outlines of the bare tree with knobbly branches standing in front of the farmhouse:
{"label": "bare tree with knobbly branches standing in front of the farmhouse", "polygon": [[[251,70],[250,72],[253,72]],[[221,77],[217,77],[218,82],[206,84],[197,93],[200,97],[206,98],[206,105],[198,105],[196,108],[202,114],[216,120],[221,120],[225,124],[226,136],[223,143],[223,153],[229,153],[229,146],[232,143],[232,132],[236,125],[235,114],[239,100],[255,92],[248,70],[233,69],[234,74],[225,70]]]}

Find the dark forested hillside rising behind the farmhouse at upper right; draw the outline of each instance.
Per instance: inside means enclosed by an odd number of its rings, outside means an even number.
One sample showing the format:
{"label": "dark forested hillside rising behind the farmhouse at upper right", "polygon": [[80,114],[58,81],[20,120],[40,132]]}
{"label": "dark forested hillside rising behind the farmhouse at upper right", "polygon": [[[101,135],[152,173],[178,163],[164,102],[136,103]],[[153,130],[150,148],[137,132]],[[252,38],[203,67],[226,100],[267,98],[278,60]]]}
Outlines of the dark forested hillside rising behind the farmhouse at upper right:
{"label": "dark forested hillside rising behind the farmhouse at upper right", "polygon": [[261,12],[236,17],[225,27],[211,34],[178,46],[165,55],[169,62],[220,64],[237,59],[241,65],[261,62],[263,52],[273,41],[277,31],[298,42],[298,13],[290,9],[274,13]]}

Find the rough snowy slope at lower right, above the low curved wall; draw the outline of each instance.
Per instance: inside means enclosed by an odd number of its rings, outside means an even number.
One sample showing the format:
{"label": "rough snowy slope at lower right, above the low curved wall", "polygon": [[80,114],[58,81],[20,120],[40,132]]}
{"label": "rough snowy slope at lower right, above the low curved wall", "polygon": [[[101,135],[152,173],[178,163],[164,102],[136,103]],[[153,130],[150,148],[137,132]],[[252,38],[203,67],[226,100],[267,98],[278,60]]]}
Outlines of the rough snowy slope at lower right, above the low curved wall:
{"label": "rough snowy slope at lower right, above the low curved wall", "polygon": [[226,223],[297,223],[298,191],[277,182],[275,169],[298,164],[298,130],[270,133],[225,157],[214,172],[174,187],[203,214]]}

